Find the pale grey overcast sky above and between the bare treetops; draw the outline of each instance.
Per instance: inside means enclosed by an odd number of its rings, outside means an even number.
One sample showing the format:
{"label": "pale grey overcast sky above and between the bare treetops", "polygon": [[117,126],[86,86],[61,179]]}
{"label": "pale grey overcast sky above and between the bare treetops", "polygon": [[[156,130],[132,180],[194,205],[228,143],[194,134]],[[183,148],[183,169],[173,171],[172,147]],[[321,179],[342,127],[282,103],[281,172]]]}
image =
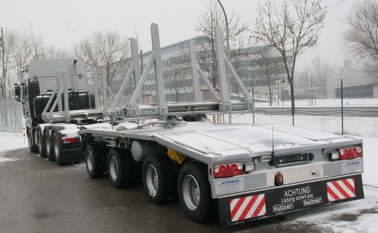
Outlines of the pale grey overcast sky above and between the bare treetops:
{"label": "pale grey overcast sky above and between the bare treetops", "polygon": [[[161,46],[201,35],[195,30],[198,16],[206,12],[209,0],[2,0],[0,27],[26,30],[32,25],[41,33],[45,44],[71,49],[95,30],[116,30],[122,36],[135,37],[144,51],[151,50],[150,25],[159,25]],[[342,65],[345,55],[341,48],[343,20],[353,3],[360,0],[323,0],[329,7],[325,27],[317,48],[307,49],[297,61],[297,68],[308,65],[320,56],[332,64]],[[261,1],[265,3],[264,1]],[[278,5],[282,1],[274,0]],[[341,3],[340,3],[341,2]],[[235,11],[242,22],[255,24],[257,1],[221,0],[226,12]],[[335,5],[336,4],[336,5]],[[335,6],[332,6],[335,5]],[[331,7],[330,7],[331,6]]]}

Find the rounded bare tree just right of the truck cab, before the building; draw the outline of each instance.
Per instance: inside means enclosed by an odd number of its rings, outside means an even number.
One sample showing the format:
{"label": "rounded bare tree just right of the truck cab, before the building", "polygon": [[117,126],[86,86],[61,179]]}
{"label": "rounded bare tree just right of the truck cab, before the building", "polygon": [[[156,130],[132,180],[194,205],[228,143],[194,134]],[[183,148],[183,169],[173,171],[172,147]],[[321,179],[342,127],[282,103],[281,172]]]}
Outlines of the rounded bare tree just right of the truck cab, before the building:
{"label": "rounded bare tree just right of the truck cab, before the building", "polygon": [[115,73],[121,70],[130,56],[130,42],[114,31],[95,31],[73,46],[74,55],[84,61],[87,69],[106,70],[109,86]]}

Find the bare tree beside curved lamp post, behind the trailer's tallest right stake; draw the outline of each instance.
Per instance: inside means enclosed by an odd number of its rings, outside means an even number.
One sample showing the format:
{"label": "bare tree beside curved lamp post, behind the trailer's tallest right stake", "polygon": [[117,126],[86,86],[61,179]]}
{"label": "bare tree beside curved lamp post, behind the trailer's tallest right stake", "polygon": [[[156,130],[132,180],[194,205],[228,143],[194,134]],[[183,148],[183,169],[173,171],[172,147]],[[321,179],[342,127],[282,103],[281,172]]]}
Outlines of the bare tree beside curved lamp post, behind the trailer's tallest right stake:
{"label": "bare tree beside curved lamp post, behind the trailer's tallest right stake", "polygon": [[[195,29],[207,36],[207,43],[201,44],[200,52],[197,55],[198,63],[202,70],[208,73],[215,87],[218,84],[218,66],[215,54],[214,27],[222,28],[223,43],[226,41],[227,25],[222,9],[216,1],[206,4],[207,12],[200,15]],[[240,39],[243,32],[247,30],[248,24],[241,23],[240,16],[235,12],[227,14],[228,39],[230,41],[229,59],[239,56],[243,44]]]}

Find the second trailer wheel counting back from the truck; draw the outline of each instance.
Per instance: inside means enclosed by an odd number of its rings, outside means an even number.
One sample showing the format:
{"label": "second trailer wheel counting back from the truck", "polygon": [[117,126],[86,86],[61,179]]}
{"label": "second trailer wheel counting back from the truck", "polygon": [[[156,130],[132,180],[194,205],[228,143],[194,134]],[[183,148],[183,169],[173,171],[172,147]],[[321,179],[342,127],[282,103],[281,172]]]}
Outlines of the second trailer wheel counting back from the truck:
{"label": "second trailer wheel counting back from the truck", "polygon": [[133,158],[125,149],[111,148],[108,154],[109,179],[114,188],[133,185]]}

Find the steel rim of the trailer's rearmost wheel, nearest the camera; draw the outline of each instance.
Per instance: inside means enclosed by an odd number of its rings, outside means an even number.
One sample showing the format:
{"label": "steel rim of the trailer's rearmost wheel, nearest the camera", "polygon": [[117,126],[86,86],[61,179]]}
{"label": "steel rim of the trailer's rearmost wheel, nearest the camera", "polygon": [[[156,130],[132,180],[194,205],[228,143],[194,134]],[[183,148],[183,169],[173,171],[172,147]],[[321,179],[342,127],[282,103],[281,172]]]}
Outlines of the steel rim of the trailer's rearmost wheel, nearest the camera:
{"label": "steel rim of the trailer's rearmost wheel, nearest the camera", "polygon": [[182,181],[182,197],[188,209],[195,210],[198,208],[201,198],[200,188],[192,175],[185,176]]}

